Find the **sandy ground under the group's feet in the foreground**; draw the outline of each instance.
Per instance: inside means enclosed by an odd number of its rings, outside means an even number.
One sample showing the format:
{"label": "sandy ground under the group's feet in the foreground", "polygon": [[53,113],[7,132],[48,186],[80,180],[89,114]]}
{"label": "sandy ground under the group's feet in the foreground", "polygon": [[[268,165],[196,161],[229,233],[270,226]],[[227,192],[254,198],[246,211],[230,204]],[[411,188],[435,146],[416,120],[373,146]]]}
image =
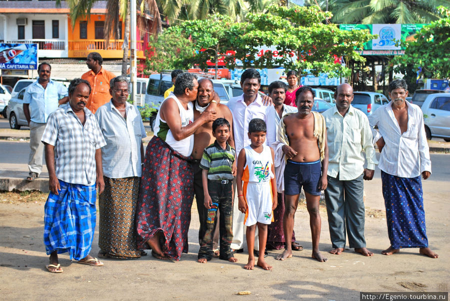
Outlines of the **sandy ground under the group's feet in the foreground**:
{"label": "sandy ground under the group's feet in the foreground", "polygon": [[[236,254],[237,263],[216,258],[197,263],[198,216],[193,208],[189,253],[178,262],[147,255],[136,260],[105,259],[104,266],[91,267],[71,263],[62,254],[64,272],[49,273],[44,268],[48,257],[42,242],[44,203],[0,200],[0,298],[349,300],[359,299],[359,291],[448,291],[448,181],[423,181],[427,234],[438,259],[419,255],[416,248],[391,256],[380,254],[389,245],[384,214],[379,214],[384,212],[381,181],[378,176],[365,183],[365,235],[373,257],[346,249],[341,255],[327,253],[324,263],[312,259],[308,215],[302,204],[294,229],[305,250],[285,261],[274,259],[281,250],[269,251],[272,271],[243,269],[245,253]],[[320,249],[326,253],[331,243],[324,208],[321,216]],[[97,241],[96,231],[93,255],[98,251]],[[242,290],[251,294],[236,295]]]}

